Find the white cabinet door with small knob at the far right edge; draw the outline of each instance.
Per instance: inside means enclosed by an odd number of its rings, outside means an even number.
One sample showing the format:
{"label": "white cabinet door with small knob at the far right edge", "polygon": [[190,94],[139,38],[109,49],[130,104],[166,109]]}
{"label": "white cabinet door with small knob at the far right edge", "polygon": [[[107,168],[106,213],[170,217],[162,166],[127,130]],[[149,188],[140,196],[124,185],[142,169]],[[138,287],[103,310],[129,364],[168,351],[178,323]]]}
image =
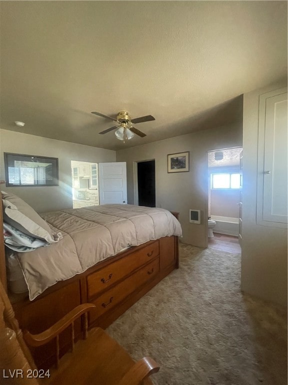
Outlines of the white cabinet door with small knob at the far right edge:
{"label": "white cabinet door with small knob at the far right edge", "polygon": [[287,92],[275,93],[260,96],[257,214],[262,224],[287,223]]}

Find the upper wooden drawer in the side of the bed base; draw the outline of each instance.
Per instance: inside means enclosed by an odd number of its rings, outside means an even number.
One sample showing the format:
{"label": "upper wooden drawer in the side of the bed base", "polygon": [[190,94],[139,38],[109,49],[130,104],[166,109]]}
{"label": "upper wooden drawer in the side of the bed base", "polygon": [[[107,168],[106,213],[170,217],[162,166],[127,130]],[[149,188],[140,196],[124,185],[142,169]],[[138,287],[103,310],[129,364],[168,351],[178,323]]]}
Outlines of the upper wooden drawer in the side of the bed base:
{"label": "upper wooden drawer in the side of the bed base", "polygon": [[143,247],[136,253],[127,255],[103,267],[102,269],[87,276],[88,300],[98,295],[102,290],[121,280],[125,276],[139,269],[144,264],[159,255],[159,242],[155,241]]}

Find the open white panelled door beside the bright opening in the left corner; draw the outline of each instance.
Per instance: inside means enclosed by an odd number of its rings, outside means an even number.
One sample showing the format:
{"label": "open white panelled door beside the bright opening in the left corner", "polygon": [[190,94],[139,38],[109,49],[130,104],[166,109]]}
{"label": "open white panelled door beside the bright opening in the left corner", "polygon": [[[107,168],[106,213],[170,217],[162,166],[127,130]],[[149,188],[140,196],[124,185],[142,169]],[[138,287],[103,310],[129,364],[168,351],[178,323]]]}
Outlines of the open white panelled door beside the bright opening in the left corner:
{"label": "open white panelled door beside the bright opening in the left corner", "polygon": [[126,162],[98,163],[99,204],[127,204]]}

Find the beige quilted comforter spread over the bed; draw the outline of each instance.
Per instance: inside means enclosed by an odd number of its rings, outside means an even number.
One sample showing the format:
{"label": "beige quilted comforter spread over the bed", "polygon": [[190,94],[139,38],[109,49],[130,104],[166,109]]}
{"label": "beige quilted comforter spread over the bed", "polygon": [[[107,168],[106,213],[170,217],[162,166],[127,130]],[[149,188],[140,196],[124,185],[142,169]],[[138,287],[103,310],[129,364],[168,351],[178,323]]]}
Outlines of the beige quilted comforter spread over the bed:
{"label": "beige quilted comforter spread over the bed", "polygon": [[63,239],[18,254],[30,300],[54,283],[80,274],[129,246],[182,234],[170,212],[134,205],[90,206],[41,217],[56,233],[60,231]]}

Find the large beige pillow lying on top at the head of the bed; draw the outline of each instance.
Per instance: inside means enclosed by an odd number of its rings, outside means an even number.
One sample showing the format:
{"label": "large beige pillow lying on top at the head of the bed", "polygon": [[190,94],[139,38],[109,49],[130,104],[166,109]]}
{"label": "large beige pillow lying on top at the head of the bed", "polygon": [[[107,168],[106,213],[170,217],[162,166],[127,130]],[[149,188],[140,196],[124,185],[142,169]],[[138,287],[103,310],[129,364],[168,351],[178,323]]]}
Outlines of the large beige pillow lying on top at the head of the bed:
{"label": "large beige pillow lying on top at the head of the bed", "polygon": [[27,203],[12,193],[2,194],[3,220],[23,233],[55,243],[54,234],[45,222]]}

